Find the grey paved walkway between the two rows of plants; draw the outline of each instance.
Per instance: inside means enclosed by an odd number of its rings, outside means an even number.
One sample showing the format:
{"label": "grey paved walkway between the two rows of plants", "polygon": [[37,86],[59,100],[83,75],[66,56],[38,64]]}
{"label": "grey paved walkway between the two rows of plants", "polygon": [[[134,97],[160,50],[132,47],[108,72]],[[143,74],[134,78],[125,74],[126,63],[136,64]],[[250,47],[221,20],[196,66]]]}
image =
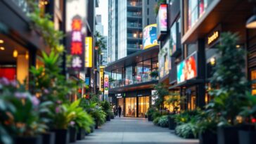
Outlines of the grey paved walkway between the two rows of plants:
{"label": "grey paved walkway between the two rows of plants", "polygon": [[75,144],[198,144],[175,136],[169,129],[154,126],[147,119],[115,118]]}

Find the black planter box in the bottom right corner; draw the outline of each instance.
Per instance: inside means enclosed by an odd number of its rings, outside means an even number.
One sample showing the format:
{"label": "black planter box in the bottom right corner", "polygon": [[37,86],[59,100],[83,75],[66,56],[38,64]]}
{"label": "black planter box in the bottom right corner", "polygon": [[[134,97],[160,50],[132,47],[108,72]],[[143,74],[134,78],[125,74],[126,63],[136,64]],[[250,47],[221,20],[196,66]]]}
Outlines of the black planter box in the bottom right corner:
{"label": "black planter box in the bottom right corner", "polygon": [[256,131],[238,131],[240,144],[255,144]]}

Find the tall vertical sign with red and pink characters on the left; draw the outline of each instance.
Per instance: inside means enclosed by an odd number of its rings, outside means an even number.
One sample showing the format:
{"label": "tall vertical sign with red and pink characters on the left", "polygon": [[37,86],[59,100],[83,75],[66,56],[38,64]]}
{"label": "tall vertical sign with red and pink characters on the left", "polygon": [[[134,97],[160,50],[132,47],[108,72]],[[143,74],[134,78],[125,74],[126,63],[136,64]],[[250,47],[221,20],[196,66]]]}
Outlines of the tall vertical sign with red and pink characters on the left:
{"label": "tall vertical sign with red and pink characters on the left", "polygon": [[70,69],[84,70],[84,50],[82,43],[82,21],[79,18],[72,20],[70,55],[72,55]]}

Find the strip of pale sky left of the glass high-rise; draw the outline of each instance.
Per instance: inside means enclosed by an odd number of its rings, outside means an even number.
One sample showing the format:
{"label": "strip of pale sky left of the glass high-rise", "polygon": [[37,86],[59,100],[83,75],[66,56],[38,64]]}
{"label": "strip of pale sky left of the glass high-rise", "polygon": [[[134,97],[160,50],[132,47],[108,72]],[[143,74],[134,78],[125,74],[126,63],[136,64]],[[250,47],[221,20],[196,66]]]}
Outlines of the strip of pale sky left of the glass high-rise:
{"label": "strip of pale sky left of the glass high-rise", "polygon": [[99,0],[99,6],[96,8],[96,15],[101,15],[101,22],[104,26],[104,35],[108,36],[108,0]]}

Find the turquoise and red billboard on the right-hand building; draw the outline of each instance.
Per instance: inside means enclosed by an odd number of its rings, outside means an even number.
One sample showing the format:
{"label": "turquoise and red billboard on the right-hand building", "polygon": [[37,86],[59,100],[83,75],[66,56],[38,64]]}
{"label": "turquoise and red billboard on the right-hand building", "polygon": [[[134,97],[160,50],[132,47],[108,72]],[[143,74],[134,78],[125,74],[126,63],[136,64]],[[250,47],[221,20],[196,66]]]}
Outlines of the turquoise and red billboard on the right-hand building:
{"label": "turquoise and red billboard on the right-hand building", "polygon": [[177,83],[196,78],[197,74],[197,53],[195,52],[177,65]]}

